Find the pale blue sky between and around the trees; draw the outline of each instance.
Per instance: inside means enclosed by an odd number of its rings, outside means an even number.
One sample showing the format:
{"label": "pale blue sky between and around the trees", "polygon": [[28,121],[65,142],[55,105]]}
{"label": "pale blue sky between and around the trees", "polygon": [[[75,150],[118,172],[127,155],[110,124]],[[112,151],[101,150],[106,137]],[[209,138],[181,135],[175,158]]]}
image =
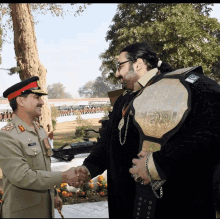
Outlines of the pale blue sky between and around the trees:
{"label": "pale blue sky between and around the trees", "polygon": [[[65,7],[69,7],[68,4]],[[47,69],[47,85],[62,83],[65,91],[79,97],[78,89],[101,76],[99,55],[108,49],[106,33],[112,24],[117,4],[92,4],[80,16],[53,17],[37,15],[35,25],[40,62]],[[220,4],[214,4],[210,17],[220,22]],[[4,21],[4,20],[3,20]],[[2,46],[0,68],[16,66],[13,32],[8,32],[11,43]],[[0,69],[0,96],[10,86],[20,82]]]}

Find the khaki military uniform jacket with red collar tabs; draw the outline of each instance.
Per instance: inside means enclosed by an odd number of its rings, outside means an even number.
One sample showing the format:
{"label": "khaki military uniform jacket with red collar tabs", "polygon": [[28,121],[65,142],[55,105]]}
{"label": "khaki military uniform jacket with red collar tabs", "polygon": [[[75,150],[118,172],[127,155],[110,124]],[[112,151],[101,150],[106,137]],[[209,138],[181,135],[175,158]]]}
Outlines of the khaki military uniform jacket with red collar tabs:
{"label": "khaki military uniform jacket with red collar tabs", "polygon": [[0,131],[3,213],[9,218],[54,216],[54,186],[61,172],[51,172],[52,149],[42,126],[36,132],[18,116]]}

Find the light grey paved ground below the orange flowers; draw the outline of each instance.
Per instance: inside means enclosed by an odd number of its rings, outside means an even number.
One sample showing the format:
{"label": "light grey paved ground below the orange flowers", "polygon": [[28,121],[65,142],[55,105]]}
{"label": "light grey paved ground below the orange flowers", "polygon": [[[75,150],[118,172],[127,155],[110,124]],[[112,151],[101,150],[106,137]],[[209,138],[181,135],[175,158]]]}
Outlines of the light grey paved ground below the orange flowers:
{"label": "light grey paved ground below the orange flowers", "polygon": [[[63,205],[62,214],[64,218],[109,218],[108,202]],[[61,218],[56,209],[55,218]]]}

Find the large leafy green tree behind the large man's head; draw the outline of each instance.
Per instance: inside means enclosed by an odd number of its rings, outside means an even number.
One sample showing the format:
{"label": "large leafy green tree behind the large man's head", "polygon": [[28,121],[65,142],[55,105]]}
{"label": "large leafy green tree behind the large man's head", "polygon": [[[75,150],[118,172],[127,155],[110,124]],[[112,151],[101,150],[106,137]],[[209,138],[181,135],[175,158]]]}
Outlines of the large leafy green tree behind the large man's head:
{"label": "large leafy green tree behind the large man's head", "polygon": [[[158,57],[174,68],[201,65],[206,75],[217,74],[220,24],[210,18],[208,3],[123,3],[119,4],[100,55],[103,74],[115,80],[115,62],[121,49],[148,41]],[[217,64],[216,64],[217,63]],[[219,72],[220,74],[220,72]]]}

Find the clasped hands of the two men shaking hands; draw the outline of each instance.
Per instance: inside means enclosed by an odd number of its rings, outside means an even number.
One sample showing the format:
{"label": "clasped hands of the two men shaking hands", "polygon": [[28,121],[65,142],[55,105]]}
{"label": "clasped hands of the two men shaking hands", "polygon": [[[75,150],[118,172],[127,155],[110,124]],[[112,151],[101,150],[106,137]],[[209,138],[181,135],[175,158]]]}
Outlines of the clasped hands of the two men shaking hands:
{"label": "clasped hands of the two men shaking hands", "polygon": [[62,172],[62,183],[79,188],[91,179],[88,169],[84,166],[72,167]]}

